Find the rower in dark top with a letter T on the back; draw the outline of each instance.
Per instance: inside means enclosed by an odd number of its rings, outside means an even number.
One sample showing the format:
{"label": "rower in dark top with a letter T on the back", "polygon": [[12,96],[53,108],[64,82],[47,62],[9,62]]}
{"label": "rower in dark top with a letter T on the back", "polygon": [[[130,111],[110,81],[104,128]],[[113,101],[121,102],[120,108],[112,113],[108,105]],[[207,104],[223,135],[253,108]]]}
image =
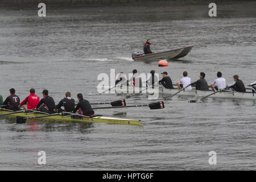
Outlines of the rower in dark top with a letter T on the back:
{"label": "rower in dark top with a letter T on the back", "polygon": [[10,110],[20,110],[19,109],[19,97],[15,94],[15,89],[11,88],[10,89],[10,96],[8,96],[5,100],[5,102],[3,102],[3,105],[7,105],[4,108],[6,109],[10,109]]}

